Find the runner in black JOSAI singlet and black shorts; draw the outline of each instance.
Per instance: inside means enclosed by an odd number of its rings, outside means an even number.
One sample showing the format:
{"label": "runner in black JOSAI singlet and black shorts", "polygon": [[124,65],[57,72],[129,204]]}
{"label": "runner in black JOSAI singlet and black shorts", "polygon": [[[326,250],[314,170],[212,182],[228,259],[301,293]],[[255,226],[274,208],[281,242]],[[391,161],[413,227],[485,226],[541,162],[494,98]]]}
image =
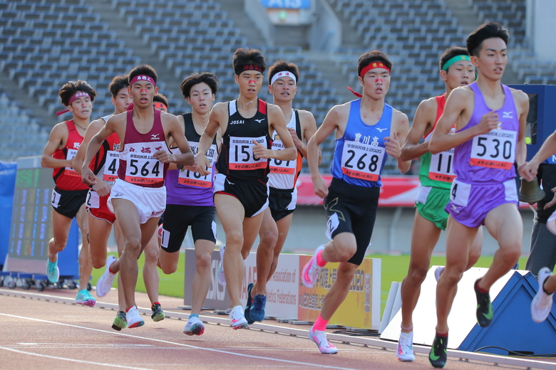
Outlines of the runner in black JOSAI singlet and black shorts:
{"label": "runner in black JOSAI singlet and black shorts", "polygon": [[[257,238],[263,211],[268,206],[268,159],[293,161],[297,151],[282,110],[257,97],[267,66],[262,53],[257,49],[239,48],[234,53],[232,65],[240,96],[212,107],[199,142],[197,171],[202,176],[212,171],[205,153],[220,129],[222,152],[216,164],[214,200],[226,234],[223,266],[232,304],[230,322],[234,329],[240,329],[247,327],[240,301],[245,275],[243,260]],[[270,149],[270,134],[274,131],[282,139],[282,150]]]}

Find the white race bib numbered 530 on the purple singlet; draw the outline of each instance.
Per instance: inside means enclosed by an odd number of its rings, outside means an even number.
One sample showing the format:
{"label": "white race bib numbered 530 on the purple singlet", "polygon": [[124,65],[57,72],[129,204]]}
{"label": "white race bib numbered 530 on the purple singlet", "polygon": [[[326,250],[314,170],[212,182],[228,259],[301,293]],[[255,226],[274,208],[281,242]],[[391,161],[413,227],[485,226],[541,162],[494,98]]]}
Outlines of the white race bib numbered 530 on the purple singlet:
{"label": "white race bib numbered 530 on the purple singlet", "polygon": [[515,162],[518,132],[508,129],[492,131],[473,137],[470,164],[493,169],[511,169]]}

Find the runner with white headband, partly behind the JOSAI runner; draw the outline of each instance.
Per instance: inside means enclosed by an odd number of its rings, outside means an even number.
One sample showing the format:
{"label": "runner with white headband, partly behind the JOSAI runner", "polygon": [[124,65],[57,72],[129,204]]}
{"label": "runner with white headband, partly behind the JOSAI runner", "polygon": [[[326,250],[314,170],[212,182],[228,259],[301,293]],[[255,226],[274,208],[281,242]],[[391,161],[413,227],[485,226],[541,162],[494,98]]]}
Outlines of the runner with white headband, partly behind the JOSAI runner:
{"label": "runner with white headband, partly behind the JOSAI runner", "polygon": [[[279,60],[269,68],[269,93],[274,104],[280,107],[287,123],[287,129],[297,149],[295,161],[270,160],[268,174],[269,206],[264,210],[259,230],[257,247],[257,281],[247,287],[245,318],[251,324],[264,319],[267,302],[267,282],[278,265],[278,257],[288,235],[297,203],[295,182],[301,172],[303,157],[307,157],[307,141],[316,132],[313,114],[307,110],[292,109],[292,101],[297,93],[299,68],[294,63]],[[272,149],[281,150],[284,145],[274,132]],[[252,300],[253,298],[253,300]]]}

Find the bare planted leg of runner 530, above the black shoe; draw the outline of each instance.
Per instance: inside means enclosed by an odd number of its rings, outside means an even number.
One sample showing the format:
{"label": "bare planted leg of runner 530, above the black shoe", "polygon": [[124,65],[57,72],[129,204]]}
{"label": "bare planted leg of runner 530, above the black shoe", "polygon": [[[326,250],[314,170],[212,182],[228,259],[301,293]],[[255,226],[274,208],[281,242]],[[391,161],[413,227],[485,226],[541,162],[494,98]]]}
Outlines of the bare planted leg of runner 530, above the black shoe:
{"label": "bare planted leg of runner 530, above the black shoe", "polygon": [[446,228],[446,268],[436,285],[436,331],[448,332],[448,314],[452,307],[458,282],[468,265],[469,250],[478,228],[469,228],[452,216],[448,217]]}

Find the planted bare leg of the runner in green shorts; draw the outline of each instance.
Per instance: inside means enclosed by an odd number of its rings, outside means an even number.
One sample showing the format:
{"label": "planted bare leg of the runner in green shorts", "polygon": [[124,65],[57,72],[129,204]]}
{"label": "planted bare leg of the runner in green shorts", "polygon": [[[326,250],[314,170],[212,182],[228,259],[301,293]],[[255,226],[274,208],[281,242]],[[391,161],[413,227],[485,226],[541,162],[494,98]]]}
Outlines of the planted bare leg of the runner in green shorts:
{"label": "planted bare leg of the runner in green shorts", "polygon": [[441,229],[435,223],[421,216],[417,210],[413,220],[413,231],[411,233],[411,258],[407,276],[401,283],[401,331],[413,331],[413,310],[421,294],[421,284],[425,280],[429,266],[431,265],[431,254],[440,238]]}

